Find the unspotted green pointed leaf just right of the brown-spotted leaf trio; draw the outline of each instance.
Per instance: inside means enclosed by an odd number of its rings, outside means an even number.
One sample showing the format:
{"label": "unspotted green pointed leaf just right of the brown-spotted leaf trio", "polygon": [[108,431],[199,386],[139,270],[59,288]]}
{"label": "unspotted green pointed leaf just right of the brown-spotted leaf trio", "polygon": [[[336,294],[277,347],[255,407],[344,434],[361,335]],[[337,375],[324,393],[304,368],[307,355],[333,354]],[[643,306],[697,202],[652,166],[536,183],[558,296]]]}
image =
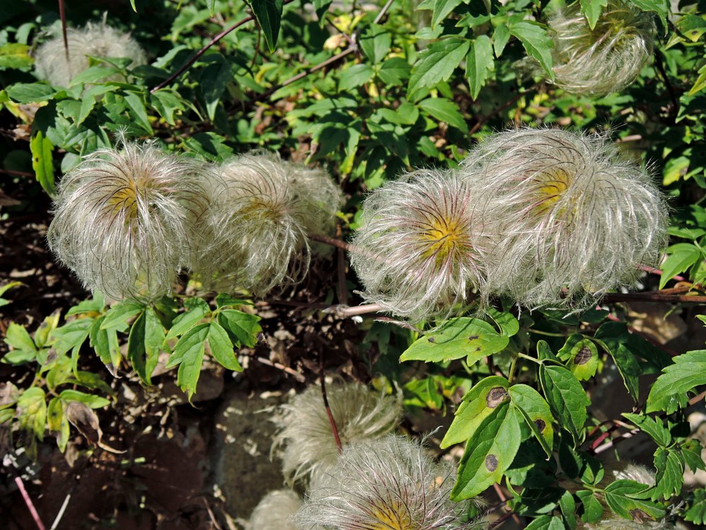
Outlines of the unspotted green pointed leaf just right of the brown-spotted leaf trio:
{"label": "unspotted green pointed leaf just right of the brown-spotted leaf trio", "polygon": [[591,404],[586,391],[578,379],[561,366],[539,367],[539,382],[544,396],[549,402],[554,417],[562,428],[570,432],[574,444],[583,439],[583,425],[586,423],[586,407]]}

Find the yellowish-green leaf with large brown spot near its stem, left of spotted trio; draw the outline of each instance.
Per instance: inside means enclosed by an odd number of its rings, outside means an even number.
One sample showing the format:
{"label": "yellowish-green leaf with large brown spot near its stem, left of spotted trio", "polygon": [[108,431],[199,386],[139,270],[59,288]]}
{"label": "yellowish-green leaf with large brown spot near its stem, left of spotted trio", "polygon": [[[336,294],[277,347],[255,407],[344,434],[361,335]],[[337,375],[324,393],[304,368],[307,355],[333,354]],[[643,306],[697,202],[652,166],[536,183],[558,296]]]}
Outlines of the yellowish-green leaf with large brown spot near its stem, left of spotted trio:
{"label": "yellowish-green leaf with large brown spot near its stem, left of spotted trio", "polygon": [[481,422],[488,418],[498,405],[508,401],[510,383],[505,377],[491,375],[467,391],[455,411],[453,422],[441,440],[441,447],[465,442],[472,437]]}

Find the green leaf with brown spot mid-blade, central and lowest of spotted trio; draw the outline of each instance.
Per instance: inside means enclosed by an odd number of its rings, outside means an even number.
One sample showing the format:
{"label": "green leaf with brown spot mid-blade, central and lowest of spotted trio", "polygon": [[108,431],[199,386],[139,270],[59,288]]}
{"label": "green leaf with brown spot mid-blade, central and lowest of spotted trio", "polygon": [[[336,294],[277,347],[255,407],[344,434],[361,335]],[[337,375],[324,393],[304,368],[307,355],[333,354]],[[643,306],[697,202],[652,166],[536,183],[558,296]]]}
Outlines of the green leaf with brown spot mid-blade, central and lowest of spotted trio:
{"label": "green leaf with brown spot mid-blade, central and lowest of spotted trio", "polygon": [[499,482],[505,470],[513,464],[517,449],[520,449],[520,439],[520,419],[516,409],[507,402],[501,403],[468,439],[451,498],[470,499]]}

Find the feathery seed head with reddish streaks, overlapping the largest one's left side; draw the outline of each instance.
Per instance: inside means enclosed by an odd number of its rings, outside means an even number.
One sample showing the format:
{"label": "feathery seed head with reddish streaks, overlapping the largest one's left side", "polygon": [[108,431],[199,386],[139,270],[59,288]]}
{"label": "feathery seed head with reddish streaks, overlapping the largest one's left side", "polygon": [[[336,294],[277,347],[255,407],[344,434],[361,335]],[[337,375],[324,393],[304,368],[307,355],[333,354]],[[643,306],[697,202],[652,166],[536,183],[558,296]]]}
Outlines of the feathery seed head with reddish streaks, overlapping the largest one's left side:
{"label": "feathery seed head with reddish streaks, overlapping the largest one's left side", "polygon": [[448,316],[484,283],[486,218],[455,172],[417,170],[364,201],[351,265],[363,297],[412,321]]}

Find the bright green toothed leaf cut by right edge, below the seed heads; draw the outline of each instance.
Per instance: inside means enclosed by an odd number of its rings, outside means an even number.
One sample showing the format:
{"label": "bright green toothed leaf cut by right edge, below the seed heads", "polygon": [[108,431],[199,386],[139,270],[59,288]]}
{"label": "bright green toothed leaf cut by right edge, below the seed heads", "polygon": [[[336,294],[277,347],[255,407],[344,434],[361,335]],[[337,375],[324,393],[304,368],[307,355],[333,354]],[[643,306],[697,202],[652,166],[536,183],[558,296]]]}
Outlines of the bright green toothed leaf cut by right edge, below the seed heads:
{"label": "bright green toothed leaf cut by right edge, below the seed heads", "polygon": [[676,412],[677,408],[686,406],[686,393],[700,384],[706,384],[706,350],[677,355],[674,365],[664,368],[664,373],[652,385],[647,396],[647,413]]}

